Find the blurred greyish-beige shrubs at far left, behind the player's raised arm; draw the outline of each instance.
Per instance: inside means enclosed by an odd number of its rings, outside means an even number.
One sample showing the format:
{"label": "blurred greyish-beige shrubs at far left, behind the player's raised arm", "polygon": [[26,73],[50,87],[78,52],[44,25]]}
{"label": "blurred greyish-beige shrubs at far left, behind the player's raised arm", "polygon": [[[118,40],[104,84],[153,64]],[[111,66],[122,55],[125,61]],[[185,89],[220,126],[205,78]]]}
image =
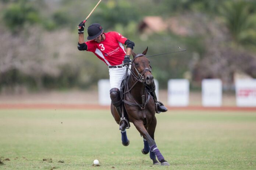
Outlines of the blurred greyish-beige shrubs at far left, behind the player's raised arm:
{"label": "blurred greyish-beige shrubs at far left, behind the player's raised arm", "polygon": [[[0,34],[3,34],[1,28]],[[17,70],[18,75],[33,78],[38,89],[44,88],[44,76],[60,76],[67,63],[70,67],[75,67],[70,56],[77,50],[67,48],[73,42],[65,41],[67,35],[71,37],[67,30],[46,33],[39,27],[27,27],[26,33],[22,32],[19,36],[3,34],[0,36],[0,74]],[[11,81],[9,82],[11,86]]]}

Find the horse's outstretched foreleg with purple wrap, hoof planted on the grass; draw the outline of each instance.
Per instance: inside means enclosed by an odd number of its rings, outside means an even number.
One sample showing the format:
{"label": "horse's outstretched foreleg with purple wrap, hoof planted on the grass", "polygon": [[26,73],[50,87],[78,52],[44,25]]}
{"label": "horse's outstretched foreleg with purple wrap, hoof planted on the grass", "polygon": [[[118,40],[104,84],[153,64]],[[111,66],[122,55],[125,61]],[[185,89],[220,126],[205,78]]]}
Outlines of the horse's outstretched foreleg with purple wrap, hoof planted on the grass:
{"label": "horse's outstretched foreleg with purple wrap, hoof planted on the grass", "polygon": [[164,160],[163,155],[159,151],[159,149],[156,146],[156,143],[154,139],[147,133],[147,130],[145,129],[142,121],[136,121],[134,122],[134,126],[136,129],[141,133],[143,138],[147,140],[150,146],[150,151],[154,152],[154,154],[157,156],[157,159],[161,162],[161,165],[170,165],[166,160]]}

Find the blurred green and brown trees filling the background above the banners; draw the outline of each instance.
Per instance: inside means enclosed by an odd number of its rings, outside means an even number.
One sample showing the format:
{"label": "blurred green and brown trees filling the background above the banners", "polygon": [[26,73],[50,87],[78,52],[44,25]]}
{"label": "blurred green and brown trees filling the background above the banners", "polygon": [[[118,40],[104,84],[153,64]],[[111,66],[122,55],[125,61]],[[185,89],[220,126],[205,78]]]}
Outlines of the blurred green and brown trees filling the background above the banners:
{"label": "blurred green and brown trees filling the background above the banners", "polygon": [[[96,3],[0,0],[0,90],[93,89],[109,78],[93,53],[77,50],[77,25]],[[143,32],[147,16],[160,17],[157,27],[166,29]],[[256,78],[255,0],[102,0],[86,27],[95,22],[134,41],[135,53],[187,49],[149,58],[160,88],[170,78],[188,78],[192,89],[221,78],[228,90],[236,75]]]}

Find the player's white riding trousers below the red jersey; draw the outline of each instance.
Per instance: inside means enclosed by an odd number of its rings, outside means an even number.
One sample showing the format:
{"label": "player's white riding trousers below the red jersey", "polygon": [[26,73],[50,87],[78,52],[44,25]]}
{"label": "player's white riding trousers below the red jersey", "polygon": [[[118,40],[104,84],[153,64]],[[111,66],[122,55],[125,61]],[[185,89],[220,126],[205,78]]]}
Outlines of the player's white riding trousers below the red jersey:
{"label": "player's white riding trousers below the red jersey", "polygon": [[[129,66],[131,68],[131,65]],[[109,81],[110,89],[118,88],[120,90],[122,79],[124,78],[127,67],[122,68],[110,68],[109,69]],[[130,70],[128,70],[128,75],[130,75]]]}

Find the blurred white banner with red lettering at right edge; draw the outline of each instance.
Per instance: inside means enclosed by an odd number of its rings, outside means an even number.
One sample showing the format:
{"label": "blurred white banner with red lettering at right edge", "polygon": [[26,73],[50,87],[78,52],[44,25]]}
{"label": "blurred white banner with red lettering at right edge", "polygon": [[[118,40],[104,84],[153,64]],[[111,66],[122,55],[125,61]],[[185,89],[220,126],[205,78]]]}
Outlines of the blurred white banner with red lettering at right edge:
{"label": "blurred white banner with red lettering at right edge", "polygon": [[238,79],[235,93],[237,106],[256,107],[256,79]]}

